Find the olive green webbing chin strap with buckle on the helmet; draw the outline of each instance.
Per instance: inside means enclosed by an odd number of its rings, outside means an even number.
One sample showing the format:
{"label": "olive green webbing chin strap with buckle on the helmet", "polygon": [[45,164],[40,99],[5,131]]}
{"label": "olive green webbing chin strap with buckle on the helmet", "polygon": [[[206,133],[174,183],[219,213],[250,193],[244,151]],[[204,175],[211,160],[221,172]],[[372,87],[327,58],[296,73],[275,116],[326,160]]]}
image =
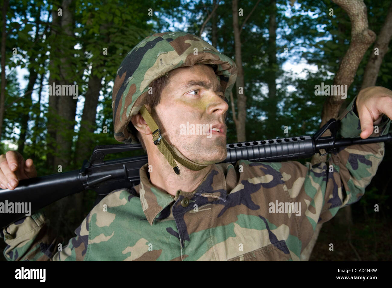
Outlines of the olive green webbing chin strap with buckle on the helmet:
{"label": "olive green webbing chin strap with buckle on the helmet", "polygon": [[186,158],[176,147],[170,145],[165,138],[161,135],[161,130],[156,125],[154,119],[152,118],[150,112],[146,109],[145,105],[140,109],[140,114],[142,114],[147,125],[150,127],[152,132],[152,141],[158,147],[160,152],[165,156],[167,162],[173,168],[177,175],[180,175],[180,168],[178,168],[177,163],[191,169],[193,171],[199,171],[209,165],[198,164],[194,161]]}

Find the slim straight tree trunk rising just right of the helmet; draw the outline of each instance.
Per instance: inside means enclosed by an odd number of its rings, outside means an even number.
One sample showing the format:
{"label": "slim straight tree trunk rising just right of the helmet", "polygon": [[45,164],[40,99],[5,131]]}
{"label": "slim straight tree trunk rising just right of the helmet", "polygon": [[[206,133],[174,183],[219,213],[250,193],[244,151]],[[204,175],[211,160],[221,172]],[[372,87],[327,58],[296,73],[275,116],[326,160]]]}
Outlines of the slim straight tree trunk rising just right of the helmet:
{"label": "slim straight tree trunk rising just right of the helmet", "polygon": [[[245,121],[246,121],[246,96],[244,87],[244,74],[242,69],[241,58],[241,39],[240,29],[238,27],[238,0],[232,0],[233,13],[233,28],[234,28],[234,47],[236,51],[236,65],[237,65],[237,80],[236,80],[236,95],[237,95],[237,141],[246,141]],[[241,91],[240,91],[241,90]]]}

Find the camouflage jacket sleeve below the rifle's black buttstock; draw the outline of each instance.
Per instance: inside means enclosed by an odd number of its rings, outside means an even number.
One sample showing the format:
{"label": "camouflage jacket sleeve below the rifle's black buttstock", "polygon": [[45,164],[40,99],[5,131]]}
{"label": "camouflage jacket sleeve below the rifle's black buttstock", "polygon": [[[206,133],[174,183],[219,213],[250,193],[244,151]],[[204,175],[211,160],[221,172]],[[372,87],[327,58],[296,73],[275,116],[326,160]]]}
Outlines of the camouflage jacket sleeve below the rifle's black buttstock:
{"label": "camouflage jacket sleeve below the rifle's black buttstock", "polygon": [[[90,215],[90,214],[89,214]],[[2,234],[7,246],[4,257],[8,261],[82,261],[89,237],[88,219],[75,230],[76,237],[62,246],[63,239],[49,228],[49,220],[38,212],[25,217],[6,228]]]}

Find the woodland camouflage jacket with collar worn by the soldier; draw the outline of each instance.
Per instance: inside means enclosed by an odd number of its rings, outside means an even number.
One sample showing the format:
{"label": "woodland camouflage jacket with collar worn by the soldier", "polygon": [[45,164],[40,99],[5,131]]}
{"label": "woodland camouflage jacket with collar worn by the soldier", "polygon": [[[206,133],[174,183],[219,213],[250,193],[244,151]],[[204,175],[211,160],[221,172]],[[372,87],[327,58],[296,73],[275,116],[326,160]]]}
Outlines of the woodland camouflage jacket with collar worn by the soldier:
{"label": "woodland camouflage jacket with collar worn by the soldier", "polygon": [[[342,137],[359,137],[361,132],[354,101],[341,116]],[[372,136],[388,132],[390,120],[383,120],[379,134]],[[212,165],[195,191],[179,190],[175,197],[149,182],[145,165],[141,183],[107,195],[61,251],[48,220],[33,214],[7,227],[4,256],[56,261],[300,260],[316,224],[359,200],[383,155],[384,143],[373,143],[340,149],[327,163],[314,166],[245,160],[236,166]]]}

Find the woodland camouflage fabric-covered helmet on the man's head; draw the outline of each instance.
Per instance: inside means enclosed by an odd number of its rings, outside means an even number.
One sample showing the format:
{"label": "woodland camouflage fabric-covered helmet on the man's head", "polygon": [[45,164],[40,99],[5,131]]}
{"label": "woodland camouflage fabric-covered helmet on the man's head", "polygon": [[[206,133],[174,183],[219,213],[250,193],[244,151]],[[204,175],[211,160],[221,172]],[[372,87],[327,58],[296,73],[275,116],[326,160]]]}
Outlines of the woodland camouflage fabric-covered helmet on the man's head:
{"label": "woodland camouflage fabric-covered helmet on the man's head", "polygon": [[237,77],[236,65],[201,38],[185,32],[156,33],[136,45],[124,58],[114,81],[114,138],[138,143],[128,124],[145,104],[150,83],[171,70],[196,63],[217,66],[215,74],[228,99]]}

